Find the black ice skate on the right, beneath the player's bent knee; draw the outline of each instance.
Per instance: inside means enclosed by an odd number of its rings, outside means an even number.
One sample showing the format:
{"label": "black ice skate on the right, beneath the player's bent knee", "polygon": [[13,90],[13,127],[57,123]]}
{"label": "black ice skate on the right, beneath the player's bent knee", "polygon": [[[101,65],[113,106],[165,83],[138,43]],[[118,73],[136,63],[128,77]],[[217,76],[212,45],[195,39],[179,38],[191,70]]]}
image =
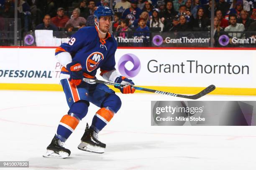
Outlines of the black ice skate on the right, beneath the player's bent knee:
{"label": "black ice skate on the right, beneath the player's bent knee", "polygon": [[78,145],[79,150],[84,150],[93,153],[104,153],[106,144],[98,140],[98,134],[92,128],[89,128],[87,123],[84,135],[81,138],[81,143]]}

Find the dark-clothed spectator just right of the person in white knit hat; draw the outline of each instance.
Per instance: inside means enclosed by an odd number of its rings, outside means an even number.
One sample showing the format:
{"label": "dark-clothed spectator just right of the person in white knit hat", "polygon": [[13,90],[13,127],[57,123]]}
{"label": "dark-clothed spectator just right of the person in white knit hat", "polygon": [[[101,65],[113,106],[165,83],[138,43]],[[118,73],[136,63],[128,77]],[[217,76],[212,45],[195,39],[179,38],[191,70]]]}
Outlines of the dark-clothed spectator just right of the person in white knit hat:
{"label": "dark-clothed spectator just right of the person in white knit hat", "polygon": [[164,23],[164,25],[166,25],[167,22],[172,23],[174,16],[177,14],[178,12],[174,10],[172,1],[168,1],[166,3],[166,10],[160,13],[159,17],[161,18],[161,22]]}

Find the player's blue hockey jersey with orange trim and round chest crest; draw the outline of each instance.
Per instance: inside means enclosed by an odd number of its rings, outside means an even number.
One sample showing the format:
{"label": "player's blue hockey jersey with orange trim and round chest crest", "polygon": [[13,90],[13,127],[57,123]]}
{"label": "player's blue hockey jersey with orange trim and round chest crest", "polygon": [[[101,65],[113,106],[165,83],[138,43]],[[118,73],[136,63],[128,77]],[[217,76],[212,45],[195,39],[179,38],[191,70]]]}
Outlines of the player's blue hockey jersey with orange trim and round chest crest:
{"label": "player's blue hockey jersey with orange trim and round chest crest", "polygon": [[[101,70],[101,75],[115,70],[116,49],[117,42],[109,32],[105,39],[100,39],[97,27],[83,27],[72,35],[68,43],[61,44],[56,49],[55,55],[69,52],[72,60],[82,65],[84,77],[93,78],[98,68]],[[62,67],[61,74],[69,74],[69,72]]]}

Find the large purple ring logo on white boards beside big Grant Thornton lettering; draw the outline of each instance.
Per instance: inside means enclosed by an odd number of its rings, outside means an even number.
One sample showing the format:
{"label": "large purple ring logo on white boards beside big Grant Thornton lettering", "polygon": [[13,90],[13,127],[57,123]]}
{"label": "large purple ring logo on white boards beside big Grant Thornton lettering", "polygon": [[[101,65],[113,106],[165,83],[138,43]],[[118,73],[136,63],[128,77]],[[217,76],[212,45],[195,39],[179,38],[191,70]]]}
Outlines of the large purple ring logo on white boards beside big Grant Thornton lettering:
{"label": "large purple ring logo on white boards beside big Grant Thornton lettering", "polygon": [[[133,68],[131,70],[127,70],[125,68],[125,64],[128,61],[131,61],[133,63]],[[125,77],[135,77],[141,70],[141,62],[136,55],[125,54],[118,61],[118,70],[121,73],[121,75]]]}

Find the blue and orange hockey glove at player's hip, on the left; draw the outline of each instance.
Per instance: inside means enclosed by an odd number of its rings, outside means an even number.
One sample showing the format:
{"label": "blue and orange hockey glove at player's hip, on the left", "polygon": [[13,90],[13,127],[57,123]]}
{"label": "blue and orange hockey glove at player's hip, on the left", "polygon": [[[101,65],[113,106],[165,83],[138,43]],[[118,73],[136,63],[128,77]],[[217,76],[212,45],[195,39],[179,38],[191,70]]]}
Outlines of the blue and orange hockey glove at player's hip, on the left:
{"label": "blue and orange hockey glove at player's hip, on the left", "polygon": [[66,68],[70,75],[69,81],[73,82],[76,86],[80,85],[83,79],[82,65],[73,61],[67,64]]}

